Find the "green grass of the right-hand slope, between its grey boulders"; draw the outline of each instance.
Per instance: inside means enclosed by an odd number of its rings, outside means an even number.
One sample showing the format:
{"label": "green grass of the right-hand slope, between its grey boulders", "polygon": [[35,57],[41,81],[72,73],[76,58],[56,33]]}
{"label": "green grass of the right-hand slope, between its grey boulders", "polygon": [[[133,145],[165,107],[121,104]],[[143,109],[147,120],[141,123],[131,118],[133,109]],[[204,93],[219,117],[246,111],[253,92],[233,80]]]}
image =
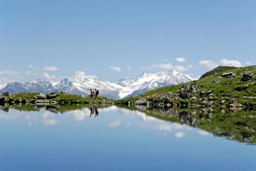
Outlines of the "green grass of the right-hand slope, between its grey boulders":
{"label": "green grass of the right-hand slope, between its grey boulders", "polygon": [[[227,69],[227,68],[225,68]],[[224,69],[224,70],[225,70]],[[249,81],[241,81],[244,71],[252,71],[254,76]],[[194,100],[191,99],[182,99],[180,97],[173,97],[171,100],[177,104],[194,104],[199,105],[202,104],[202,101],[206,98],[204,95],[200,95],[200,92],[204,91],[205,93],[212,91],[212,97],[210,101],[214,101],[212,105],[221,105],[221,101],[225,100],[223,105],[230,104],[230,100],[232,98],[236,99],[237,103],[240,103],[243,107],[250,107],[255,109],[256,105],[256,66],[248,66],[241,68],[229,68],[228,70],[216,70],[212,73],[218,73],[218,76],[210,75],[209,77],[205,77],[199,79],[197,81],[179,84],[176,86],[167,86],[161,87],[154,90],[147,91],[143,94],[130,97],[127,99],[121,99],[116,101],[117,104],[127,104],[128,102],[134,103],[139,99],[146,99],[146,101],[150,104],[153,104],[153,100],[157,98],[161,98],[161,96],[166,95],[168,92],[179,93],[179,90],[184,85],[197,85],[200,89],[193,95],[196,98]],[[221,77],[221,74],[224,72],[233,72],[236,74],[234,78],[224,78]]]}

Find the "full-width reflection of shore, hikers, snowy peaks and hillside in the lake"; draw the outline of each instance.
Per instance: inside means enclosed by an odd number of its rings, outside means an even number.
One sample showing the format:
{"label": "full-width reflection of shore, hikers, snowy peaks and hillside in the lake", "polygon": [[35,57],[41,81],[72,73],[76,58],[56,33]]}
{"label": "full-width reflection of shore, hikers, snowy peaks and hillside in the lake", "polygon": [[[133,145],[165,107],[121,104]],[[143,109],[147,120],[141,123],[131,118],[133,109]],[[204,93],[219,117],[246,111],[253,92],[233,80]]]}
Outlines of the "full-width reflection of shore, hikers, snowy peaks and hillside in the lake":
{"label": "full-width reflection of shore, hikers, snowy peaks and hillside in the lake", "polygon": [[230,112],[224,109],[211,108],[169,108],[153,109],[146,107],[116,107],[103,105],[6,105],[0,106],[0,110],[8,112],[10,109],[20,111],[41,111],[51,113],[74,113],[77,121],[85,117],[97,116],[100,112],[118,111],[125,115],[134,115],[145,120],[155,118],[169,120],[188,126],[198,127],[216,136],[223,136],[228,139],[240,142],[256,143],[256,112],[236,111]]}

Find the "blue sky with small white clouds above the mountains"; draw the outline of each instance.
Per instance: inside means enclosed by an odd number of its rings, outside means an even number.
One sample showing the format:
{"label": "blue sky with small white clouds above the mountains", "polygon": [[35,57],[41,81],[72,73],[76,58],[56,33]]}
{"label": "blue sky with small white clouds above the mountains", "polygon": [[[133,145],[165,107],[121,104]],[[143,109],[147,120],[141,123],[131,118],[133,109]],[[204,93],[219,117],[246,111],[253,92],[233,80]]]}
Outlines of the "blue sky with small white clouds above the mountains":
{"label": "blue sky with small white clouds above the mountains", "polygon": [[256,62],[256,1],[0,0],[0,83]]}

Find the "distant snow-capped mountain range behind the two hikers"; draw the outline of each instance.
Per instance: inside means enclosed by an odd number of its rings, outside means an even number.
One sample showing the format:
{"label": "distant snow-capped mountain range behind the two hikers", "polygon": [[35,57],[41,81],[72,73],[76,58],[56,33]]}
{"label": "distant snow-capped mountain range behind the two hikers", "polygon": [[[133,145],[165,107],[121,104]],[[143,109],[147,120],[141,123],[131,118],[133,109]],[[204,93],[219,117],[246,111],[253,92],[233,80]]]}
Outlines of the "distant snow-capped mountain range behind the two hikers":
{"label": "distant snow-capped mountain range behind the two hikers", "polygon": [[197,78],[181,74],[175,69],[158,72],[157,74],[142,73],[135,77],[129,77],[118,82],[108,82],[100,80],[96,76],[85,76],[82,78],[65,78],[59,82],[49,82],[44,80],[33,80],[24,83],[0,84],[0,92],[9,91],[12,94],[20,92],[41,92],[50,93],[53,91],[65,91],[72,94],[89,95],[90,88],[97,88],[100,95],[112,99],[122,99],[134,96],[147,90],[162,86],[177,85]]}

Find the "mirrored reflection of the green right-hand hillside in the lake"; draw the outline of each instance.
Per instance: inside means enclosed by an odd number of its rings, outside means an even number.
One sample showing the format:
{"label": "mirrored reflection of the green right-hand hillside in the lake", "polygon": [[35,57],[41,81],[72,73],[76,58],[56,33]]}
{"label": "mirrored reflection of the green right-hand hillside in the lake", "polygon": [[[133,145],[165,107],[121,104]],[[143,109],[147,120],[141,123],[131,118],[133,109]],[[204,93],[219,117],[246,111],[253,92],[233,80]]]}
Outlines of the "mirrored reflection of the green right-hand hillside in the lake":
{"label": "mirrored reflection of the green right-hand hillside in the lake", "polygon": [[[125,107],[129,108],[129,107]],[[164,120],[177,121],[188,126],[199,127],[216,136],[254,144],[256,143],[256,112],[230,111],[212,108],[146,108],[130,107],[147,115]]]}

